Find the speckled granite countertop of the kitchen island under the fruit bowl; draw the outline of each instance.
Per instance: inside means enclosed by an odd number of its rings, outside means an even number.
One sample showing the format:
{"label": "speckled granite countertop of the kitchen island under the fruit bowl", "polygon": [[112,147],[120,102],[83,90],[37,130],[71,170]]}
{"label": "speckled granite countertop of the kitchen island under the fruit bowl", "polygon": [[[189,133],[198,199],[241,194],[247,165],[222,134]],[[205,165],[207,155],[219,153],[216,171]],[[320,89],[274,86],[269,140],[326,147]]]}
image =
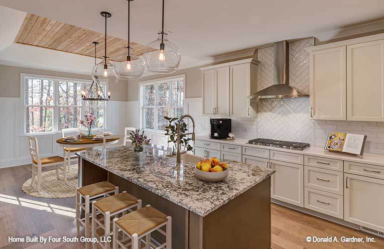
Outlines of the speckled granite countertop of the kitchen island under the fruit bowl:
{"label": "speckled granite countertop of the kitchen island under the fruit bowl", "polygon": [[174,157],[167,156],[169,152],[153,146],[144,146],[140,153],[128,146],[119,146],[76,154],[202,217],[275,172],[224,160],[230,170],[229,176],[221,182],[210,183],[196,177],[195,164],[182,161],[177,165]]}

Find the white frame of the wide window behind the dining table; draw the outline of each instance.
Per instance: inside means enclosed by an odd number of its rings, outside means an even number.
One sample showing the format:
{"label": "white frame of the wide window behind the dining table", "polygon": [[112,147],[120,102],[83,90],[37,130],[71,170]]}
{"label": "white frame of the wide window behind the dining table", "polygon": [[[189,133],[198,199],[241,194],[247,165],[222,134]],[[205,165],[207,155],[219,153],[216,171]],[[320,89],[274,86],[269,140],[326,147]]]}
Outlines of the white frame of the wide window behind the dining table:
{"label": "white frame of the wide window behind the dining table", "polygon": [[[53,117],[52,117],[52,131],[46,131],[46,132],[26,132],[26,114],[25,114],[25,95],[24,95],[24,83],[25,83],[25,78],[37,78],[41,80],[53,80],[53,102],[54,105],[51,106],[44,106],[44,107],[52,107],[53,108]],[[78,78],[70,78],[70,77],[57,77],[57,76],[48,76],[48,75],[39,75],[39,74],[28,74],[28,73],[20,73],[20,102],[21,102],[21,120],[23,124],[21,125],[22,131],[21,134],[23,135],[43,135],[43,134],[56,134],[60,133],[61,129],[59,129],[59,118],[58,118],[58,112],[59,112],[59,107],[68,107],[68,106],[58,106],[57,105],[57,97],[58,97],[58,89],[57,85],[59,81],[70,81],[70,82],[76,82],[81,84],[81,91],[84,91],[84,85],[85,84],[91,84],[92,80],[89,79],[78,79]],[[109,84],[108,82],[103,82],[105,84],[105,94],[108,93],[109,91]],[[105,101],[104,104],[104,129],[107,129],[107,103],[108,101]],[[38,105],[36,105],[38,106]],[[86,106],[84,104],[84,101],[81,100],[81,106],[80,107],[80,117],[81,119],[84,116],[85,113],[85,108],[86,107],[95,107],[95,106]],[[82,129],[85,129],[85,127],[82,127]],[[98,129],[98,128],[93,128],[93,129]]]}

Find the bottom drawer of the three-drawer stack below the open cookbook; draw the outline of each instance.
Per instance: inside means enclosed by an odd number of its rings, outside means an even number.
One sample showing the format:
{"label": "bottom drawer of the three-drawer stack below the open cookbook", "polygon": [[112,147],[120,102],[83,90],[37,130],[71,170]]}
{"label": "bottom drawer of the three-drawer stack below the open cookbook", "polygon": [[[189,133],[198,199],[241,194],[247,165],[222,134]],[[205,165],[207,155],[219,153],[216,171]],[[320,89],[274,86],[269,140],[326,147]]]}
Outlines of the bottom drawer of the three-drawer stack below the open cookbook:
{"label": "bottom drawer of the three-drawer stack below the open cookbook", "polygon": [[304,188],[304,208],[343,219],[343,196]]}

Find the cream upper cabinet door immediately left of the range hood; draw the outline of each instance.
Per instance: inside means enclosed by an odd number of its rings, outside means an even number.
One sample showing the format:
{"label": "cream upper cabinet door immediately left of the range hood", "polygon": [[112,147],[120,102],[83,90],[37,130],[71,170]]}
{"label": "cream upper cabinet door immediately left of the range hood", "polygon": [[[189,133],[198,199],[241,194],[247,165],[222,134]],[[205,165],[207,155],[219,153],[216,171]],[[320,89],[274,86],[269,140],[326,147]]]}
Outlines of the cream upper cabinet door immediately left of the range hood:
{"label": "cream upper cabinet door immediately left of the range hood", "polygon": [[251,107],[251,63],[230,67],[230,116],[255,117]]}

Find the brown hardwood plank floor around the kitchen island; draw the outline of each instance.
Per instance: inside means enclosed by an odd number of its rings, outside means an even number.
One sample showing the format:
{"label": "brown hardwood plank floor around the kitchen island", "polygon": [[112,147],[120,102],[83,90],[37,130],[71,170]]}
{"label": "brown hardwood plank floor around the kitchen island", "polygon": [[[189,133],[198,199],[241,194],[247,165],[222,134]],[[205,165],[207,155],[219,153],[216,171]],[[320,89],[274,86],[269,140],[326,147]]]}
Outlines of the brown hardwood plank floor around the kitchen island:
{"label": "brown hardwood plank floor around the kitchen island", "polygon": [[[29,165],[0,169],[0,249],[82,249],[81,243],[12,243],[8,236],[74,237],[75,198],[46,199],[26,195],[22,183]],[[308,243],[307,236],[373,237],[332,222],[272,204],[272,249],[384,249],[375,243]],[[257,249],[257,246],[255,246]]]}

